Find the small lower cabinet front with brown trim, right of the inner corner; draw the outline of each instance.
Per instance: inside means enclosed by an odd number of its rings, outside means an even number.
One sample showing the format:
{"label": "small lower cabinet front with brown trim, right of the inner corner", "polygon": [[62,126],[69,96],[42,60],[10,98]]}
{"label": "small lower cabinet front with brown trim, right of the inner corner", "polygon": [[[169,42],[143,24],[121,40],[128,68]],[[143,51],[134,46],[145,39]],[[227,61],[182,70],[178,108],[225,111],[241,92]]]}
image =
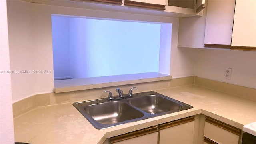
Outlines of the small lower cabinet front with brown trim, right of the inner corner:
{"label": "small lower cabinet front with brown trim, right of the inner corner", "polygon": [[206,116],[204,144],[239,144],[242,130]]}

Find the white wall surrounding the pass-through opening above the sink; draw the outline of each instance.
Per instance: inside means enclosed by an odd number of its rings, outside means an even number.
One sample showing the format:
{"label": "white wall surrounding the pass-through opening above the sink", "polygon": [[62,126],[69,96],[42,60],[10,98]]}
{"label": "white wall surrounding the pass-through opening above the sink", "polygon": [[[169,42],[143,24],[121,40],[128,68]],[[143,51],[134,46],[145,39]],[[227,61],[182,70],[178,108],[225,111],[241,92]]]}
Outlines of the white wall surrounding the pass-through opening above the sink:
{"label": "white wall surrounding the pass-through opening above the sink", "polygon": [[[187,56],[189,53],[176,47],[178,18],[48,6],[18,0],[10,0],[7,4],[10,62],[13,70],[52,70],[53,72],[51,14],[67,14],[172,23],[170,74],[174,78],[194,74],[191,59]],[[12,101],[16,102],[39,93],[52,92],[53,78],[53,73],[13,74]]]}

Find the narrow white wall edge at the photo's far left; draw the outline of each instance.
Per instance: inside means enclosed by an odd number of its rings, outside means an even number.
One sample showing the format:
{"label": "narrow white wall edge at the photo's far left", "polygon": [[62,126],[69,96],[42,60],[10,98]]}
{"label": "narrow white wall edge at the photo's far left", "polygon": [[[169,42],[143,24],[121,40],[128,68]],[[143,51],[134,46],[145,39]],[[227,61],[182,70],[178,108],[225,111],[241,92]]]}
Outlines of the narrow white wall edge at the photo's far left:
{"label": "narrow white wall edge at the photo's far left", "polygon": [[[14,144],[6,0],[0,0],[0,144]],[[4,72],[3,72],[4,71]]]}

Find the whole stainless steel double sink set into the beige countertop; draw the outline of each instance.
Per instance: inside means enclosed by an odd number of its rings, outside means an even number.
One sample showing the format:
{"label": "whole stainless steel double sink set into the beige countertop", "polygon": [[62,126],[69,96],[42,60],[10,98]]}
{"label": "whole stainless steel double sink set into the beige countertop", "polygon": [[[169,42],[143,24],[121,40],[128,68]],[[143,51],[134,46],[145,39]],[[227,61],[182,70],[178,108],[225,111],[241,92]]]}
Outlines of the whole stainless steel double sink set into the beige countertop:
{"label": "whole stainless steel double sink set into the beige countertop", "polygon": [[157,92],[141,92],[121,100],[102,98],[76,102],[73,106],[97,129],[193,108]]}

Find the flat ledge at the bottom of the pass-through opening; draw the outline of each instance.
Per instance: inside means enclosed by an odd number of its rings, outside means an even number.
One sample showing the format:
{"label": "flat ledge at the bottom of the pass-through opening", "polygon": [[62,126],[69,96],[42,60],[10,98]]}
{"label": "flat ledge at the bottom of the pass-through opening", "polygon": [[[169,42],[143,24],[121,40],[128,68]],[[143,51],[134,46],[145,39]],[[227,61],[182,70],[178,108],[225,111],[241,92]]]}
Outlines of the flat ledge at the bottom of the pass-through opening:
{"label": "flat ledge at the bottom of the pass-through opening", "polygon": [[138,84],[160,80],[170,80],[172,76],[157,72],[125,74],[116,76],[102,76],[94,78],[79,78],[69,80],[55,80],[54,92],[72,92],[77,90],[88,90],[93,88],[104,88],[110,86],[121,86],[127,84]]}

